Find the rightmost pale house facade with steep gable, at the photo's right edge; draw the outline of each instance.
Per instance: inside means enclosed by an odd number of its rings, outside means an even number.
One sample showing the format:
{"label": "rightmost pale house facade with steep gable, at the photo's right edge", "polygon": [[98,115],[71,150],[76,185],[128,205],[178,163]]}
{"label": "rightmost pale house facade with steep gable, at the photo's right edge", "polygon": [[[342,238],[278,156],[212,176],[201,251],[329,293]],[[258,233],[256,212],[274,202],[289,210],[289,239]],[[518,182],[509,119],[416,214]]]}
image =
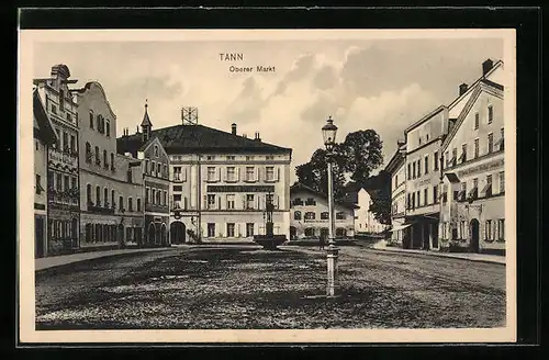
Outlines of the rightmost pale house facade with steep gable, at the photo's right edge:
{"label": "rightmost pale house facade with steep gable, at the photo's right edge", "polygon": [[442,144],[445,248],[505,252],[504,87],[482,79]]}

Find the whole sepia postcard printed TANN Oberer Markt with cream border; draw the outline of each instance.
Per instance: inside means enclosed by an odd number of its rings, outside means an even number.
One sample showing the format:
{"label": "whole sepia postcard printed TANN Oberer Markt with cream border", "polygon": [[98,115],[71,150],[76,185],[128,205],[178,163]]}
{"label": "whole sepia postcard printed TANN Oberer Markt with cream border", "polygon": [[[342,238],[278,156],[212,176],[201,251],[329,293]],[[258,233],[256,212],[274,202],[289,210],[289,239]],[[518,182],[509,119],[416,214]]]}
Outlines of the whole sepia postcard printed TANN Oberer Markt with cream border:
{"label": "whole sepia postcard printed TANN Oberer Markt with cream border", "polygon": [[21,342],[516,341],[514,30],[22,30],[18,91]]}

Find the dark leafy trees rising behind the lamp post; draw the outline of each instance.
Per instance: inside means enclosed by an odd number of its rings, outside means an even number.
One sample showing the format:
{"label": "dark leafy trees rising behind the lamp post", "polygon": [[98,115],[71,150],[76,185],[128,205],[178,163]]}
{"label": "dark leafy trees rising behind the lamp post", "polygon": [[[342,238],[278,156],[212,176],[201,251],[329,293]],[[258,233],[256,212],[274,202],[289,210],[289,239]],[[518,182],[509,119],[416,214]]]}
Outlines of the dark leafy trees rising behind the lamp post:
{"label": "dark leafy trees rising behind the lamp post", "polygon": [[[345,182],[349,177],[354,181],[363,182],[372,170],[383,162],[381,148],[383,143],[373,130],[349,133],[343,143],[334,146],[334,194],[340,200],[345,195]],[[298,181],[327,193],[326,150],[317,149],[309,162],[295,168]]]}

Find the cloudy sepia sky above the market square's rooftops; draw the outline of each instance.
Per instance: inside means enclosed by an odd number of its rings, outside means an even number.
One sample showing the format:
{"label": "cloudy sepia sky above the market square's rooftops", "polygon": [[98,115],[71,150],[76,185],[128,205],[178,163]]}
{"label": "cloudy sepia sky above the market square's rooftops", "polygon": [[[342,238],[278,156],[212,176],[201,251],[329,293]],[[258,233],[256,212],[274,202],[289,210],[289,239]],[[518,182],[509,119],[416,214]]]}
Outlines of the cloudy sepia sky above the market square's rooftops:
{"label": "cloudy sepia sky above the market square's rooftops", "polygon": [[[481,76],[486,58],[503,58],[503,40],[43,42],[33,50],[34,78],[65,64],[78,79],[74,87],[102,85],[117,136],[124,127],[135,133],[145,99],[153,128],[180,124],[181,108],[195,106],[200,124],[231,132],[236,123],[238,134],[257,131],[264,142],[292,148],[294,168],[323,147],[329,115],[338,140],[374,130],[386,164],[404,128],[450,103],[460,83]],[[221,53],[244,59],[224,61]],[[257,66],[274,71],[257,72]]]}

